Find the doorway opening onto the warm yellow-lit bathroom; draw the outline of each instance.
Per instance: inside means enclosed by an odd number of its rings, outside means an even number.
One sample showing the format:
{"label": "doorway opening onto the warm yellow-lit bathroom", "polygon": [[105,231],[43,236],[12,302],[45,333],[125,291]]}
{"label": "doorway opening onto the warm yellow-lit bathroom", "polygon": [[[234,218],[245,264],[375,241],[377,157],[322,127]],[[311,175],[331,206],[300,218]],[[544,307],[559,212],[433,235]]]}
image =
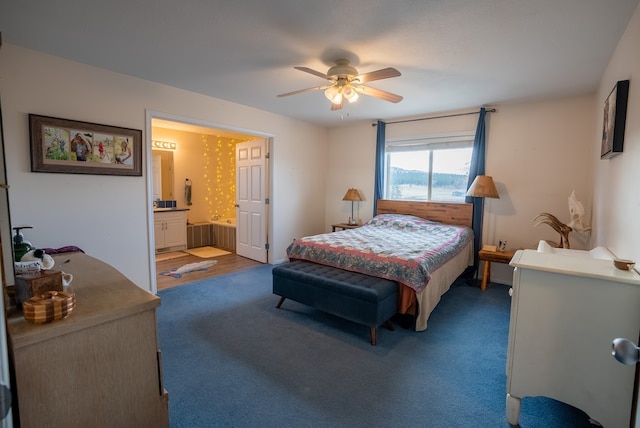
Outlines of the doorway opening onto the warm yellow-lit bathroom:
{"label": "doorway opening onto the warm yellow-lit bathroom", "polygon": [[[151,164],[149,194],[154,201],[175,200],[176,207],[187,213],[186,248],[161,248],[158,254],[151,255],[157,289],[166,288],[166,277],[160,273],[176,269],[178,264],[209,259],[216,262],[215,268],[190,272],[180,281],[172,279],[170,284],[179,285],[185,280],[200,280],[207,277],[207,273],[213,276],[267,262],[268,207],[256,211],[254,205],[256,201],[264,205],[267,200],[266,153],[270,138],[163,114],[148,114],[148,117],[152,159],[148,162]],[[262,159],[257,165],[239,160],[255,161],[256,154]],[[245,209],[247,202],[251,210]],[[157,245],[157,237],[154,241]],[[254,247],[262,248],[262,258],[238,251]],[[208,255],[218,250],[222,250],[222,255]],[[199,258],[191,259],[193,257]]]}

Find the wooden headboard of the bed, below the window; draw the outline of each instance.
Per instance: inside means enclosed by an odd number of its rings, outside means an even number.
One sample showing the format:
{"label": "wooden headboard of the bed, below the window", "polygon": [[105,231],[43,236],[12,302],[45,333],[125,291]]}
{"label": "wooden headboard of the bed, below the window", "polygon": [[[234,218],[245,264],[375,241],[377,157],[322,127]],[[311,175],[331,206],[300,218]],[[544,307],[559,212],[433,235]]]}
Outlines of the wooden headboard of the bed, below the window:
{"label": "wooden headboard of the bed, below the window", "polygon": [[444,224],[472,227],[473,204],[378,199],[377,214],[408,214]]}

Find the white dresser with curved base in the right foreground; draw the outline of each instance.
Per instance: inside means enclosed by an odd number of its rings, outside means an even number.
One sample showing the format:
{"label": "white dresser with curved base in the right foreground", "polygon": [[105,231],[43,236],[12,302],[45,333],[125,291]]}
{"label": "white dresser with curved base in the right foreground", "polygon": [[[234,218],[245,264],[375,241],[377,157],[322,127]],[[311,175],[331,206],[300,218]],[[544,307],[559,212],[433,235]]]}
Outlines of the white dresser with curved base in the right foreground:
{"label": "white dresser with curved base in the right foreground", "polygon": [[[609,258],[613,255],[608,253]],[[640,275],[607,251],[517,251],[507,350],[507,421],[520,400],[545,396],[605,428],[628,427],[635,366],[611,355],[617,337],[640,336]]]}

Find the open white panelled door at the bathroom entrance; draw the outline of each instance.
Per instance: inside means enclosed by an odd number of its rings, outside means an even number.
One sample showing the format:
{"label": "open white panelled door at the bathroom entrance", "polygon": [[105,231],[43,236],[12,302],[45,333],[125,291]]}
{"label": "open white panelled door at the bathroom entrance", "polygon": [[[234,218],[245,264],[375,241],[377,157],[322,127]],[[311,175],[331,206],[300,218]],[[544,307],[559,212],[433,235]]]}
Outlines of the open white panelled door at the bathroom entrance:
{"label": "open white panelled door at the bathroom entrance", "polygon": [[236,254],[267,262],[266,139],[236,145]]}

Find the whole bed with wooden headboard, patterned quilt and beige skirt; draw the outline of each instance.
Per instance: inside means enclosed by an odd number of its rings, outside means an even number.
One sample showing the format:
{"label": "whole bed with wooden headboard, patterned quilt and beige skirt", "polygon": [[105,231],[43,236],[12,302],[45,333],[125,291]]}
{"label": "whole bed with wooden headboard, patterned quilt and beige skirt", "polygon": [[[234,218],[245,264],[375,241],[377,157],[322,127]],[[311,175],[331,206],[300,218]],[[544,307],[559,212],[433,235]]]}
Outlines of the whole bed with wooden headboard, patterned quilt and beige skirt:
{"label": "whole bed with wooden headboard, patterned quilt and beige skirt", "polygon": [[399,284],[398,312],[417,331],[451,284],[473,265],[473,205],[379,200],[359,228],[296,239],[289,260],[306,260]]}

